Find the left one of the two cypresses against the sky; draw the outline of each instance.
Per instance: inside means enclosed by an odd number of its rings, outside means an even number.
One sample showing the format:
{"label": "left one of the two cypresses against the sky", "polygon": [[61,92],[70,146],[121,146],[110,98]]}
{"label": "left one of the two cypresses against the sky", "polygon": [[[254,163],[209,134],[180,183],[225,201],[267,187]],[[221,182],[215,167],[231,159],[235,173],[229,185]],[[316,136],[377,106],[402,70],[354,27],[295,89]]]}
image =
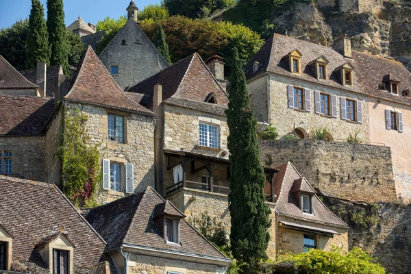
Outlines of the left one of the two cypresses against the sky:
{"label": "left one of the two cypresses against the sky", "polygon": [[37,62],[50,63],[50,48],[45,21],[45,10],[40,0],[32,0],[25,53],[27,58],[26,69],[35,68]]}

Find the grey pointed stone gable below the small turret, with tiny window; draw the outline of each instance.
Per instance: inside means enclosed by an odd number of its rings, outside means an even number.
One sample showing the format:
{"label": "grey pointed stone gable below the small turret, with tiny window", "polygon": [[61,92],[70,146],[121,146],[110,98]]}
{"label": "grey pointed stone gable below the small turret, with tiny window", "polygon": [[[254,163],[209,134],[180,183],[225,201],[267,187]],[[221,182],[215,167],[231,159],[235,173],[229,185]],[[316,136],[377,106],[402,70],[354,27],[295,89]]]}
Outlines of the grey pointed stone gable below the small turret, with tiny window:
{"label": "grey pointed stone gable below the small turret, with tiny window", "polygon": [[109,73],[112,66],[117,66],[118,73],[112,73],[112,77],[123,90],[169,66],[132,18],[114,36],[99,58]]}

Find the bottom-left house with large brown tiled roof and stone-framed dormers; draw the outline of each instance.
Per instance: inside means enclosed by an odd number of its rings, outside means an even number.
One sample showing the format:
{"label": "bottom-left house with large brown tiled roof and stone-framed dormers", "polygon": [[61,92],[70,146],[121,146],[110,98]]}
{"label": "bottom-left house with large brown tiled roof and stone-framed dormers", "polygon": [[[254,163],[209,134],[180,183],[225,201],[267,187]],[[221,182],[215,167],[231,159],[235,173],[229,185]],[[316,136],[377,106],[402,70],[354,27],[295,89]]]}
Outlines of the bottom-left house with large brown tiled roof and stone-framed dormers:
{"label": "bottom-left house with large brown tiled roof and stone-framed dormers", "polygon": [[0,272],[91,273],[110,260],[103,238],[57,186],[0,175],[0,192]]}

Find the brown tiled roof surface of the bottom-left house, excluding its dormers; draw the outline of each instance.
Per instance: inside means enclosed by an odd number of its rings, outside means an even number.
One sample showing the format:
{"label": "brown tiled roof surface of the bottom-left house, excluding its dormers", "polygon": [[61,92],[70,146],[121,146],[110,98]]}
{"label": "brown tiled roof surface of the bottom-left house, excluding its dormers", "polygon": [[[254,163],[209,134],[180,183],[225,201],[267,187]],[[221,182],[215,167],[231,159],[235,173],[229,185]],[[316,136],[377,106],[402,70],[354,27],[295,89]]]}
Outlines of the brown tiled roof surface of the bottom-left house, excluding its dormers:
{"label": "brown tiled roof surface of the bottom-left house, excluding its dormers", "polygon": [[75,245],[75,269],[101,260],[105,242],[53,184],[0,175],[0,219],[14,236],[13,260],[45,267],[36,245],[60,228]]}

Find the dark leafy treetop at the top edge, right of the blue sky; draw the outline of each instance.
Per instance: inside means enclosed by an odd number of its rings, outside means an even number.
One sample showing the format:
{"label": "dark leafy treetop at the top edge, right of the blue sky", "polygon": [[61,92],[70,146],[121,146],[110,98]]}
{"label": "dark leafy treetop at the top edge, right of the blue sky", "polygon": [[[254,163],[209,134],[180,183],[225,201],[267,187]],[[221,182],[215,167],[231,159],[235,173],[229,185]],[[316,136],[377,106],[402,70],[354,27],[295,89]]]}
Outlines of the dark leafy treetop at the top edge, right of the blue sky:
{"label": "dark leafy treetop at the top edge, right of the blue sky", "polygon": [[171,15],[198,18],[202,14],[202,8],[208,8],[210,12],[214,12],[227,8],[235,2],[234,0],[164,0],[163,3]]}

